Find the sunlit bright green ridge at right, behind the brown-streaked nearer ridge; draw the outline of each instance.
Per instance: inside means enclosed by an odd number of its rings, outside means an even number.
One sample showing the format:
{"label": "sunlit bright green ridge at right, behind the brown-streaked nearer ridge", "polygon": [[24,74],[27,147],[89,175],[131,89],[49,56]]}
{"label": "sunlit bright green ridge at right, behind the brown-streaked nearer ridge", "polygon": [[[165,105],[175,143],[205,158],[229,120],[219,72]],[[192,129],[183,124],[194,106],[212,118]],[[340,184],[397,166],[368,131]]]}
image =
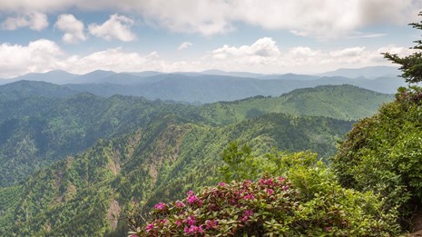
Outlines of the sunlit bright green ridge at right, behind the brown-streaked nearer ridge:
{"label": "sunlit bright green ridge at right, behind the brown-streaked nearer ridge", "polygon": [[353,85],[326,85],[295,90],[279,97],[256,96],[235,102],[205,104],[201,115],[213,123],[233,123],[269,113],[358,120],[374,114],[380,104],[392,100],[392,95]]}

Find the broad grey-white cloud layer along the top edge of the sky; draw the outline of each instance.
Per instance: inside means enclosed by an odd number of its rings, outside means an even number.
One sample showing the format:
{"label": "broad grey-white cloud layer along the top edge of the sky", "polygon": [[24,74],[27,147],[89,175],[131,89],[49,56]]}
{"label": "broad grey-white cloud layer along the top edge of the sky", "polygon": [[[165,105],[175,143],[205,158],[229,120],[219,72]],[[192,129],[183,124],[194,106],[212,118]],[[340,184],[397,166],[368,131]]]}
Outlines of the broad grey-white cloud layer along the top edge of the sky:
{"label": "broad grey-white cloud layer along the top edge of the sky", "polygon": [[[22,10],[58,12],[72,7],[89,11],[135,12],[147,24],[175,32],[216,35],[234,30],[235,23],[240,22],[266,29],[286,29],[296,35],[330,38],[353,35],[358,29],[370,25],[415,22],[422,1],[266,0],[264,4],[259,0],[0,1],[0,9],[16,13]],[[114,38],[112,33],[104,31],[97,35]]]}

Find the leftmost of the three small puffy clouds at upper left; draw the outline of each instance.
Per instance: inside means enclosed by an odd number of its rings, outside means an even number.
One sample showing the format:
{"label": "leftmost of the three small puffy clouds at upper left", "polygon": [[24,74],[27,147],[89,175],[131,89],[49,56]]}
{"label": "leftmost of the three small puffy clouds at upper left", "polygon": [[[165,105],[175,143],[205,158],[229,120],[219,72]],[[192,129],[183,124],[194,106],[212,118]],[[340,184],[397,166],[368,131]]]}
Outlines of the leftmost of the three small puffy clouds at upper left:
{"label": "leftmost of the three small puffy clouds at upper left", "polygon": [[22,27],[29,27],[34,31],[42,31],[47,26],[47,15],[39,12],[31,12],[26,15],[17,15],[16,17],[9,16],[1,24],[1,28],[11,31]]}

